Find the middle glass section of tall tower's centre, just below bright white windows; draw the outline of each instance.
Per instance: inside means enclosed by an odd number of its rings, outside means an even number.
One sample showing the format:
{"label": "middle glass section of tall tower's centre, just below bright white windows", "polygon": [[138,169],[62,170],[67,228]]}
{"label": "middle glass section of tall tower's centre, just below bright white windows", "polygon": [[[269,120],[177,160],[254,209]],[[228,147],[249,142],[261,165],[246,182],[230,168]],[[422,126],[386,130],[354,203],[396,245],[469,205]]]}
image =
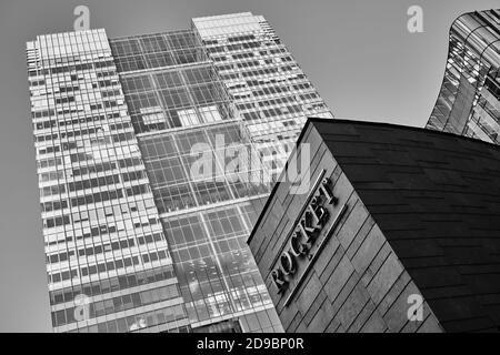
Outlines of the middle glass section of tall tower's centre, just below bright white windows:
{"label": "middle glass section of tall tower's centre, just below bright white windows", "polygon": [[[141,138],[139,142],[160,214],[269,192],[257,179],[262,168],[252,170],[250,159],[247,166],[238,170],[238,178],[242,179],[236,179],[232,170],[223,169],[233,159],[224,151],[227,145],[242,148],[249,155],[251,152],[237,123],[161,133]],[[193,154],[197,144],[206,150]],[[192,175],[192,166],[202,159],[207,159],[211,168],[208,179]]]}

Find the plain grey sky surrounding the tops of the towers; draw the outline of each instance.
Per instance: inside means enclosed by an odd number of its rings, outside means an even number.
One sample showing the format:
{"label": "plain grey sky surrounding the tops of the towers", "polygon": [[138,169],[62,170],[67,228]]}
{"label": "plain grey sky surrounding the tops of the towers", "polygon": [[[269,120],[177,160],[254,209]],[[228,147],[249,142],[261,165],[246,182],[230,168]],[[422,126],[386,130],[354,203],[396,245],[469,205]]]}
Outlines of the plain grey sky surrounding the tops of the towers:
{"label": "plain grey sky surrounding the tops of the towers", "polygon": [[[0,0],[0,332],[50,332],[26,42],[72,31],[73,9],[109,38],[262,14],[337,118],[423,128],[441,87],[452,21],[500,0]],[[423,32],[407,30],[411,6]]]}

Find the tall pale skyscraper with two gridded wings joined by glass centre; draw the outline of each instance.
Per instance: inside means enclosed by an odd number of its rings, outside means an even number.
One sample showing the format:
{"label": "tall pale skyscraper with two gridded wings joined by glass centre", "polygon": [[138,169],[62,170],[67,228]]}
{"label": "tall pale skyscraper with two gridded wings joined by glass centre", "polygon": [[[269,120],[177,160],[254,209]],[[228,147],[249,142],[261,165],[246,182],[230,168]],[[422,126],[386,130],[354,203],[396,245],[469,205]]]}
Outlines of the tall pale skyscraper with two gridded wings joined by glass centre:
{"label": "tall pale skyscraper with two gridded wings joined by glass centre", "polygon": [[[281,332],[246,240],[261,178],[332,114],[267,21],[39,36],[27,57],[54,331]],[[241,150],[261,163],[227,169]]]}

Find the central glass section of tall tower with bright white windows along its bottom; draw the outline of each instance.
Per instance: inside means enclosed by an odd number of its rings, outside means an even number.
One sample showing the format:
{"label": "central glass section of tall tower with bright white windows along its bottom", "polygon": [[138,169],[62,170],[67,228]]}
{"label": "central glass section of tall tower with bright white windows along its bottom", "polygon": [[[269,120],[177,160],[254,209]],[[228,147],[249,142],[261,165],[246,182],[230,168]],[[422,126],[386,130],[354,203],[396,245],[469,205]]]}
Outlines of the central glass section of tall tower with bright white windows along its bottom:
{"label": "central glass section of tall tower with bright white windows along its bottom", "polygon": [[233,119],[230,99],[211,65],[123,74],[137,133]]}

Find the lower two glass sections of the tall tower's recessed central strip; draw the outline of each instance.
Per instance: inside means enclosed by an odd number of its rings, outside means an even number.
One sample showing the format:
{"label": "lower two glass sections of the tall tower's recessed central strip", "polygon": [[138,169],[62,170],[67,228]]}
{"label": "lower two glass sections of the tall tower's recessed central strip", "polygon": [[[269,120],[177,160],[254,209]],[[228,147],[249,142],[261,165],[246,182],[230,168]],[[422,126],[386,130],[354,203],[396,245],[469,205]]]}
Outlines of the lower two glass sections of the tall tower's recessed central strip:
{"label": "lower two glass sections of the tall tower's recessed central strip", "polygon": [[[236,122],[140,139],[184,305],[196,327],[271,305],[246,244],[257,219],[254,205],[262,204],[269,189],[258,180],[246,182],[231,179],[222,170],[217,172],[217,166],[226,166],[227,159],[217,146],[218,138],[223,138],[224,144],[250,145]],[[197,159],[190,152],[199,143],[213,156],[213,180],[197,180],[189,173]],[[260,313],[266,318],[276,316],[271,311]],[[261,329],[279,329],[277,318],[272,320]]]}

